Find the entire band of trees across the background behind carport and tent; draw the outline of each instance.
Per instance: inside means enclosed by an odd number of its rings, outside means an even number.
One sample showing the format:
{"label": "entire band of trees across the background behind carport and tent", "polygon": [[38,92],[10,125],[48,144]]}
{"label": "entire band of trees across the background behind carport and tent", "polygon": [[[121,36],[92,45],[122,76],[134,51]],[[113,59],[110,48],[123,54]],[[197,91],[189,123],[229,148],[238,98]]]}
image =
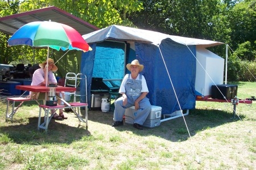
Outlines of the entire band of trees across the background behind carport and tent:
{"label": "entire band of trees across the background behind carport and tent", "polygon": [[[225,42],[241,59],[255,60],[256,0],[67,0],[65,3],[60,0],[0,0],[0,16],[47,6],[59,7],[98,28],[118,24],[169,35]],[[16,54],[14,50],[7,51],[10,50],[4,49],[7,39],[7,35],[1,33],[1,61],[9,62],[13,56],[26,59],[24,56],[32,52],[31,48],[27,49],[31,50],[28,53],[24,51],[26,48],[15,50]],[[210,50],[225,56],[223,45]],[[42,51],[37,51],[37,58],[40,58]],[[241,77],[243,71],[239,71],[240,67],[230,65],[230,68],[235,67]]]}

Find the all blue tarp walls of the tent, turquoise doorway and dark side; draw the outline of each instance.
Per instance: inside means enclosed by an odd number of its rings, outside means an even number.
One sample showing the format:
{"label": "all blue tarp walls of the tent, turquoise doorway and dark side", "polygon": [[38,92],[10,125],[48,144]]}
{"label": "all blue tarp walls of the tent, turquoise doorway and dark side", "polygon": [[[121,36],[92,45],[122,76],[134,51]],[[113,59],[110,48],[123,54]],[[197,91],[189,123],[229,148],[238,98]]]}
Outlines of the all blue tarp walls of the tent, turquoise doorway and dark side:
{"label": "all blue tarp walls of the tent, turquoise doorway and dark side", "polygon": [[[117,79],[121,77],[122,79],[124,63],[130,63],[133,59],[137,58],[144,65],[142,74],[147,81],[149,90],[147,97],[152,105],[162,107],[163,114],[170,114],[180,109],[171,85],[172,81],[181,109],[192,109],[195,107],[196,59],[187,46],[177,44],[170,39],[164,40],[160,45],[161,53],[164,56],[163,61],[158,46],[135,42],[135,52],[129,49],[129,55],[126,61],[123,61],[124,51],[122,48],[117,48],[118,42],[114,43],[116,45],[113,43],[110,43],[109,46],[99,45],[96,47],[96,44],[90,45],[94,50],[86,52],[82,56],[82,73],[88,75],[88,99],[90,99],[92,77],[102,77],[104,79]],[[191,45],[189,48],[193,53],[196,53],[195,45]],[[115,53],[110,54],[110,57],[108,57],[111,51],[115,51]],[[104,52],[107,54],[104,54]],[[100,59],[97,59],[98,57]],[[164,62],[167,65],[171,81],[168,78]],[[126,73],[129,73],[129,71],[126,70]],[[90,100],[88,102],[90,105]]]}

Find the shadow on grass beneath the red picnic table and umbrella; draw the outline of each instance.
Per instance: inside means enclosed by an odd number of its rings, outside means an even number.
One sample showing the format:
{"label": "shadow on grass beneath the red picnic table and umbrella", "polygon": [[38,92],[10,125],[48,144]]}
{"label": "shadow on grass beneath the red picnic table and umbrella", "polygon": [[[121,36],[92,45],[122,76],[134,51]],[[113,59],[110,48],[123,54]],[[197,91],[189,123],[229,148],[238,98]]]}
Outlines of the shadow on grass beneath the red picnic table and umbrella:
{"label": "shadow on grass beneath the red picnic table and umbrella", "polygon": [[[85,129],[85,124],[81,127],[72,127],[62,124],[62,121],[51,120],[48,125],[48,132],[38,130],[38,117],[28,118],[27,124],[2,126],[1,133],[5,133],[15,143],[26,143],[28,145],[41,145],[43,143],[65,143],[70,144],[81,139],[90,132]],[[42,120],[43,121],[43,118]],[[68,121],[68,120],[63,120]],[[77,122],[77,126],[79,123]]]}

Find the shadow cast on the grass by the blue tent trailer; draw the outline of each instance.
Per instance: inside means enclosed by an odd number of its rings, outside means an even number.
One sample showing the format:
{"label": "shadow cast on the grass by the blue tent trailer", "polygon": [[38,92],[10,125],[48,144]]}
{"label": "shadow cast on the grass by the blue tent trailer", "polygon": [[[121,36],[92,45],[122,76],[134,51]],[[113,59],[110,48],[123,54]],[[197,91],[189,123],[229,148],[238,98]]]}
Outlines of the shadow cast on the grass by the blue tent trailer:
{"label": "shadow cast on the grass by the blue tent trailer", "polygon": [[[243,120],[244,117],[240,116],[240,118]],[[107,124],[110,128],[113,128],[111,126],[113,123],[113,111],[108,113],[89,111],[89,120],[99,122],[100,124]],[[184,119],[180,117],[164,121],[155,128],[137,130],[133,128],[133,125],[125,124],[124,126],[117,126],[115,129],[119,131],[133,131],[134,134],[141,136],[154,135],[168,141],[181,142],[189,139],[189,134],[192,137],[199,131],[234,121],[240,121],[240,119],[237,116],[233,118],[233,113],[230,112],[216,109],[192,109],[187,116],[184,116]],[[188,126],[189,134],[185,123]]]}

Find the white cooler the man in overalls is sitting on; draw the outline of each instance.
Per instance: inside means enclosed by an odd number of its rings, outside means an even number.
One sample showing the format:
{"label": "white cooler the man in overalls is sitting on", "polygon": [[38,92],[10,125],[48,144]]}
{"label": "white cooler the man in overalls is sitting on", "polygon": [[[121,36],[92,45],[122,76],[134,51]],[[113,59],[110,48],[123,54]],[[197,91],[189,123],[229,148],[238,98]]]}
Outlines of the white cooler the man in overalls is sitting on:
{"label": "white cooler the man in overalls is sitting on", "polygon": [[[135,108],[130,107],[125,110],[125,123],[134,124]],[[143,126],[147,128],[155,128],[161,124],[162,107],[151,105],[151,112],[148,114]]]}

